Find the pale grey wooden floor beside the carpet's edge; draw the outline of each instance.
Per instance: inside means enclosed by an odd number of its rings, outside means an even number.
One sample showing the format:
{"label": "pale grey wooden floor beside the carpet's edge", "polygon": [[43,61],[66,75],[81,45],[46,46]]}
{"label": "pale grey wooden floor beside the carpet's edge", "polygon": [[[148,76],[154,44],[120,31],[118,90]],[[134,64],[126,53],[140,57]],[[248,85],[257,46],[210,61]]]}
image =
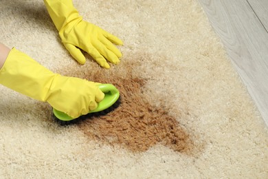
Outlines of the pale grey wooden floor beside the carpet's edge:
{"label": "pale grey wooden floor beside the carpet's edge", "polygon": [[199,0],[268,125],[268,0]]}

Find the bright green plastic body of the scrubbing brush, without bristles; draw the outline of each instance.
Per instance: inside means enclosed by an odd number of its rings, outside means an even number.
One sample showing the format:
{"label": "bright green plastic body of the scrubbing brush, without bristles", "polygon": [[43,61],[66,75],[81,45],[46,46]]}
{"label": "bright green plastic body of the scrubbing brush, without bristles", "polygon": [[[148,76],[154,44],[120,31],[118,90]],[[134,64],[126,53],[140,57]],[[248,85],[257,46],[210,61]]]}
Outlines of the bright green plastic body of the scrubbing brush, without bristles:
{"label": "bright green plastic body of the scrubbing brush, without bristles", "polygon": [[[120,97],[120,93],[118,89],[111,84],[101,84],[99,85],[99,87],[100,87],[100,90],[104,92],[104,95],[105,95],[104,99],[100,101],[100,103],[98,103],[98,107],[95,110],[90,111],[89,113],[96,113],[96,112],[104,111],[105,109],[111,107],[116,101],[118,101],[118,98]],[[75,119],[75,118],[71,118],[71,116],[68,116],[64,112],[60,112],[56,109],[53,109],[53,112],[56,118],[62,121],[70,121],[70,120]]]}

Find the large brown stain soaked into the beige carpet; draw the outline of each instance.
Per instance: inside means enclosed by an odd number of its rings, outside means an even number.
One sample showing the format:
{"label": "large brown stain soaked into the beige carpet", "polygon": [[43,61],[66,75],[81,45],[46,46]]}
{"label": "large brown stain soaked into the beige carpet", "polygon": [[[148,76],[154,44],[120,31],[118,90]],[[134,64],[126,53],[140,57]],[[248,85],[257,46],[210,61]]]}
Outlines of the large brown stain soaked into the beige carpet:
{"label": "large brown stain soaked into the beige carpet", "polygon": [[174,151],[191,154],[194,143],[188,131],[164,110],[166,107],[154,107],[148,101],[144,95],[146,80],[133,75],[133,65],[125,63],[124,72],[101,68],[91,71],[87,67],[71,69],[71,76],[111,83],[120,91],[119,107],[107,115],[82,120],[77,124],[78,128],[90,140],[120,145],[133,152],[147,151],[160,144]]}

